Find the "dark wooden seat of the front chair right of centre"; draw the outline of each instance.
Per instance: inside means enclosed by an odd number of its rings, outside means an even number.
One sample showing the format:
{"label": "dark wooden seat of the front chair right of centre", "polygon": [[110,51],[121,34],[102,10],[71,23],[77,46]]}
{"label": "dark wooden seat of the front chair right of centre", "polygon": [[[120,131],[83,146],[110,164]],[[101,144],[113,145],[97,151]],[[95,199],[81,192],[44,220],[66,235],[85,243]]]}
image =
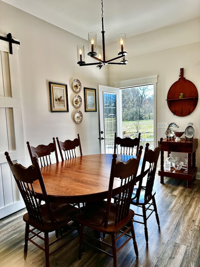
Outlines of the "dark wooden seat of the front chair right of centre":
{"label": "dark wooden seat of the front chair right of centre", "polygon": [[[99,232],[109,234],[116,232],[123,228],[129,221],[133,219],[134,211],[129,209],[128,216],[121,220],[117,225],[115,225],[116,218],[116,204],[111,203],[109,217],[108,217],[108,227],[104,228],[104,215],[106,211],[106,201],[88,204],[87,208],[77,215],[77,220],[79,223],[83,223],[85,226],[98,230]],[[92,220],[91,220],[92,219]]]}

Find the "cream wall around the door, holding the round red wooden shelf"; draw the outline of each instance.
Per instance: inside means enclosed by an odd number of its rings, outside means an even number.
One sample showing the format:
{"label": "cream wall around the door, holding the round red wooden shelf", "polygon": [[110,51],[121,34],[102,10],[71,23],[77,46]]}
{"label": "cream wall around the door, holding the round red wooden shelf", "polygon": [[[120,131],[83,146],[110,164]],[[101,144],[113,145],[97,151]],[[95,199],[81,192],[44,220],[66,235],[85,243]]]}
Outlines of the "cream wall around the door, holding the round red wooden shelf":
{"label": "cream wall around the door, holding the round red wooden shelf", "polygon": [[[110,57],[113,56],[114,45],[108,47]],[[192,114],[185,117],[173,116],[166,101],[168,90],[179,79],[181,68],[184,68],[184,77],[192,81],[200,92],[200,18],[127,39],[127,47],[129,62],[121,68],[109,66],[109,85],[158,74],[156,125],[158,122],[175,121],[180,130],[185,130],[187,123],[192,121],[194,138],[200,139],[200,100]],[[165,138],[165,129],[157,128],[156,135],[158,140]],[[197,172],[200,172],[200,143],[196,152]],[[185,154],[180,153],[179,156],[184,161]]]}

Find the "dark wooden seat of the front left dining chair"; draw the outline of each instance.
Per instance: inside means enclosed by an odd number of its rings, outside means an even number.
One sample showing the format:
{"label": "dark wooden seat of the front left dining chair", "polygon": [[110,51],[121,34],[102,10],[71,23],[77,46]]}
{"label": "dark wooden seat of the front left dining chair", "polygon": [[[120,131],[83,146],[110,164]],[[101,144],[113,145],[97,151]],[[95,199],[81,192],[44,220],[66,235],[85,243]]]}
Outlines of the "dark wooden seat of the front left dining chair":
{"label": "dark wooden seat of the front left dining chair", "polygon": [[[55,222],[54,225],[51,223],[51,219],[49,217],[49,213],[46,207],[46,204],[42,205],[41,207],[41,214],[43,218],[43,224],[37,223],[35,220],[29,217],[28,213],[25,213],[23,215],[23,220],[32,225],[34,228],[37,228],[38,230],[42,232],[53,232],[55,229],[61,228],[63,225],[66,225],[68,222],[72,220],[73,217],[75,217],[80,210],[76,207],[73,207],[70,204],[57,204],[57,203],[51,203],[51,208],[54,211],[54,217],[57,220],[60,220],[60,222]],[[64,220],[64,222],[63,222]]]}

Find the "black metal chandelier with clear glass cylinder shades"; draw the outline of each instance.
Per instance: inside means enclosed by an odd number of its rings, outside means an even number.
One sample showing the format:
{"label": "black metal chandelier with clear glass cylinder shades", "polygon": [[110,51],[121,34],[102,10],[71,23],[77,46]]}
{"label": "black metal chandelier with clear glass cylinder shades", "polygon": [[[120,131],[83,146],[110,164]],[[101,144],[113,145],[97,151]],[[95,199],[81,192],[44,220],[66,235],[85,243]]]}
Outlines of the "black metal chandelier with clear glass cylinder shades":
{"label": "black metal chandelier with clear glass cylinder shades", "polygon": [[[126,65],[127,60],[127,49],[126,49],[126,33],[118,33],[118,57],[106,60],[105,55],[105,37],[104,37],[104,28],[103,28],[103,0],[102,4],[102,48],[97,49],[97,33],[89,32],[88,33],[88,56],[93,59],[96,59],[98,62],[95,63],[85,63],[85,51],[84,44],[77,44],[77,57],[79,66],[88,66],[88,65],[97,65],[101,69],[104,65],[115,64],[115,65]],[[113,62],[117,59],[121,59],[120,62]]]}

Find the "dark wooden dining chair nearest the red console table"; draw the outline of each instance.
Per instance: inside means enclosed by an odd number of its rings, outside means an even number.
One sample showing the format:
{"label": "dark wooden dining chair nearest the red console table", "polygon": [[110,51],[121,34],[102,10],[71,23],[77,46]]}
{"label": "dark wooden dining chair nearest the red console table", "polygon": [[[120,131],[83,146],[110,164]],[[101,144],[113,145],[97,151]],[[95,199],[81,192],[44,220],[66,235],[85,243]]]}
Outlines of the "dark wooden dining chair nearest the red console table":
{"label": "dark wooden dining chair nearest the red console table", "polygon": [[[153,190],[153,184],[155,180],[156,167],[158,162],[158,157],[160,155],[160,150],[162,146],[163,138],[160,139],[158,146],[154,149],[148,149],[149,143],[146,144],[143,163],[140,175],[136,177],[136,182],[138,182],[138,187],[134,187],[131,204],[142,208],[141,213],[135,213],[136,217],[143,217],[143,221],[136,220],[133,218],[133,222],[144,224],[144,233],[146,243],[148,244],[148,229],[147,229],[147,219],[155,212],[158,227],[160,228],[160,222],[158,217],[158,211],[156,207],[155,194],[156,191]],[[146,178],[145,185],[143,185],[143,179]]]}

